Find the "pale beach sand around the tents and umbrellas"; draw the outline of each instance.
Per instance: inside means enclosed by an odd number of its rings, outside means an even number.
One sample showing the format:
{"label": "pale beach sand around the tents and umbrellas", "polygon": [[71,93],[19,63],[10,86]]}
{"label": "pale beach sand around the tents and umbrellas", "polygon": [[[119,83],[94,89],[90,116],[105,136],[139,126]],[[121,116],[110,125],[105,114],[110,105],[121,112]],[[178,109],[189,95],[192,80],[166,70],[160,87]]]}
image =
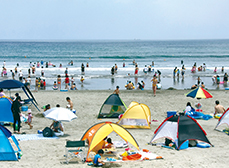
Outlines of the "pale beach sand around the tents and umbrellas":
{"label": "pale beach sand around the tents and umbrellas", "polygon": [[[0,162],[1,167],[88,167],[86,163],[72,162],[68,165],[62,164],[65,160],[66,140],[80,140],[84,132],[93,124],[101,121],[117,122],[117,119],[98,120],[97,115],[101,105],[113,91],[39,91],[32,92],[39,103],[39,108],[46,104],[55,107],[60,104],[66,107],[66,97],[70,97],[76,109],[78,119],[72,122],[64,122],[65,135],[59,139],[52,140],[30,140],[19,141],[23,151],[22,158],[17,161]],[[191,102],[192,106],[198,102],[197,99],[186,97],[188,90],[160,90],[157,96],[153,96],[152,91],[120,91],[120,97],[128,106],[132,101],[144,103],[151,110],[152,119],[158,122],[152,122],[151,129],[128,129],[134,136],[141,149],[148,149],[151,152],[162,156],[164,159],[152,161],[135,161],[110,164],[107,167],[227,167],[228,161],[228,135],[215,131],[214,128],[218,122],[217,119],[198,120],[199,124],[207,133],[209,141],[214,145],[211,148],[194,148],[186,150],[171,150],[159,146],[147,145],[153,137],[155,129],[166,118],[167,111],[182,112],[186,103]],[[228,107],[228,91],[210,91],[213,95],[211,99],[201,99],[202,110],[204,113],[214,112],[215,100],[219,100],[225,108]],[[13,95],[15,92],[11,92]],[[22,98],[26,98],[23,92],[20,92]],[[50,126],[51,120],[41,117],[43,109],[38,112],[34,106],[32,109],[33,129],[25,123],[22,124],[21,132],[26,134],[36,134],[46,126]],[[224,129],[226,125],[221,126]],[[8,127],[12,131],[12,127]],[[123,149],[124,150],[124,149]]]}

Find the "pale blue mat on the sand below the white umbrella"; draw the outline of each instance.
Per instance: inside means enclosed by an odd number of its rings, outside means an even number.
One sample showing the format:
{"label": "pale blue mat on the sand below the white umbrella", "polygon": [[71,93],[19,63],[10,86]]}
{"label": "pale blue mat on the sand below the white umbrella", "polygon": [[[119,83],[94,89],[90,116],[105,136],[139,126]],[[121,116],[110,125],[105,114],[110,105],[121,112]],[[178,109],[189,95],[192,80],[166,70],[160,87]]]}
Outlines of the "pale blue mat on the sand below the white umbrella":
{"label": "pale blue mat on the sand below the white umbrella", "polygon": [[29,140],[41,140],[41,139],[59,139],[57,136],[54,137],[43,137],[43,134],[14,134],[18,141],[29,141]]}

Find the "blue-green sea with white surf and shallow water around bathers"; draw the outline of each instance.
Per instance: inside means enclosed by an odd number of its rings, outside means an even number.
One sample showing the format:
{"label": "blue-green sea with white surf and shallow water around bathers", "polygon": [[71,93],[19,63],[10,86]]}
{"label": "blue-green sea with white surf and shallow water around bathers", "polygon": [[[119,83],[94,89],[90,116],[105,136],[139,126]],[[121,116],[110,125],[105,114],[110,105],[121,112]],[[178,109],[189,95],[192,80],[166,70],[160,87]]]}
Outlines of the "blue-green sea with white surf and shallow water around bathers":
{"label": "blue-green sea with white surf and shallow water around bathers", "polygon": [[[64,80],[64,71],[68,67],[70,77],[74,77],[79,90],[114,90],[117,85],[125,89],[127,81],[135,85],[143,80],[145,89],[152,89],[151,79],[155,71],[160,70],[162,89],[173,87],[176,89],[187,89],[197,82],[197,77],[205,83],[208,89],[216,89],[212,82],[214,68],[217,67],[217,75],[223,80],[223,74],[229,72],[229,40],[175,40],[175,41],[0,41],[0,64],[5,61],[7,76],[0,80],[12,79],[10,70],[19,64],[18,71],[22,70],[25,77],[28,76],[30,62],[35,63],[43,60],[44,63],[51,62],[56,67],[43,66],[44,78],[48,90],[52,89],[57,75]],[[73,65],[69,65],[70,61]],[[139,74],[134,75],[133,60],[138,64]],[[145,65],[154,62],[154,72],[143,73]],[[186,68],[184,79],[173,78],[173,69],[184,64]],[[81,74],[81,64],[85,68],[85,74]],[[125,63],[125,67],[123,67]],[[197,67],[206,64],[205,72],[191,73],[191,67],[196,63]],[[62,64],[62,68],[59,65]],[[111,67],[118,65],[118,71],[111,75]],[[224,66],[224,72],[221,68]],[[41,67],[36,68],[32,75],[31,89],[34,89],[35,77],[41,76]],[[127,75],[127,74],[130,75]],[[80,82],[84,76],[83,84]],[[18,77],[16,76],[16,79]],[[64,88],[64,84],[62,84]],[[225,86],[220,85],[219,89]]]}

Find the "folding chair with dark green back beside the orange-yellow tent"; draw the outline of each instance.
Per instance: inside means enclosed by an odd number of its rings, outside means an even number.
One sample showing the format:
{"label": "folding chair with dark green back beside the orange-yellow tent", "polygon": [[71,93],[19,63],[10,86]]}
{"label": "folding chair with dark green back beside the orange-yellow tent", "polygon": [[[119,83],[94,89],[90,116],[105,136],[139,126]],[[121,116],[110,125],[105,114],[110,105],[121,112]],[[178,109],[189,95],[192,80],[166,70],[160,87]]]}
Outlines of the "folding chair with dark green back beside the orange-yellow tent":
{"label": "folding chair with dark green back beside the orange-yellow tent", "polygon": [[73,158],[79,158],[82,162],[86,161],[85,141],[66,141],[66,163]]}

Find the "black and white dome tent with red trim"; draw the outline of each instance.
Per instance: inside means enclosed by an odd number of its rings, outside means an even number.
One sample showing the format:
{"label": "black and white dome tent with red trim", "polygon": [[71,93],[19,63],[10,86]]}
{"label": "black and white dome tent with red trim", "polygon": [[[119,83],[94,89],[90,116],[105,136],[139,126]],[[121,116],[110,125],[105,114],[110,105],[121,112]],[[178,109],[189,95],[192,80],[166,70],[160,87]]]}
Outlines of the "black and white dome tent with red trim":
{"label": "black and white dome tent with red trim", "polygon": [[156,129],[150,143],[160,138],[168,138],[175,142],[178,150],[186,140],[199,140],[211,145],[206,135],[195,119],[189,116],[170,116]]}

